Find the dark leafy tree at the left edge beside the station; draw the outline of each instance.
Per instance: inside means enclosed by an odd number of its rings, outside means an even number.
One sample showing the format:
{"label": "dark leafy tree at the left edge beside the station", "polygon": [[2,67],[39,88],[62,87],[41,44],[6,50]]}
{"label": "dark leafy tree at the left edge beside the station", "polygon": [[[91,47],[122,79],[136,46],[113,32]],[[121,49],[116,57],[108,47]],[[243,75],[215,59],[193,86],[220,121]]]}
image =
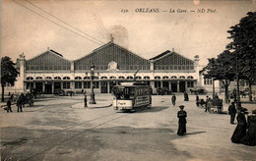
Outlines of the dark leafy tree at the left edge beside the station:
{"label": "dark leafy tree at the left edge beside the station", "polygon": [[15,64],[9,57],[1,59],[1,86],[2,86],[2,102],[4,101],[4,87],[7,83],[14,85],[19,72],[14,67]]}

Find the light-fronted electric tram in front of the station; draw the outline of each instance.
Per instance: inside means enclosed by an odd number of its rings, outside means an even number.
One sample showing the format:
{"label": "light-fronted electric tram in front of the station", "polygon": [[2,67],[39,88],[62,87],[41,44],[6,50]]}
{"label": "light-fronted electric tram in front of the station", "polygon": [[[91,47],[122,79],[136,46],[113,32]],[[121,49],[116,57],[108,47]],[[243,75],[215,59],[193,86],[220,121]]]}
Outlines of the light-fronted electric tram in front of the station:
{"label": "light-fronted electric tram in front of the station", "polygon": [[131,111],[152,106],[152,88],[144,82],[121,82],[113,86],[113,107],[115,110]]}

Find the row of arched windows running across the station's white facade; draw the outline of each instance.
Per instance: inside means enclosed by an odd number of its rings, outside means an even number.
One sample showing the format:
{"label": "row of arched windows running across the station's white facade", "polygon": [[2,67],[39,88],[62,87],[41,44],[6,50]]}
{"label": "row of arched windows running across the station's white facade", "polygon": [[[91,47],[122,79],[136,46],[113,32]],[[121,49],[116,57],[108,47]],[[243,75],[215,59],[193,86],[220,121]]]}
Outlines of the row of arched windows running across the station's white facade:
{"label": "row of arched windows running across the station's white facade", "polygon": [[[45,79],[45,80],[52,80],[51,77],[45,77],[44,79]],[[95,80],[98,80],[98,77],[94,77],[94,79],[95,79]],[[107,77],[101,77],[100,79],[101,79],[101,80],[104,80],[104,79],[107,79]],[[111,77],[109,77],[109,79],[110,79],[110,80],[115,80],[116,77],[111,76]],[[119,79],[119,80],[123,80],[123,79],[125,79],[125,77],[120,76],[120,77],[118,77],[118,79]],[[127,79],[127,80],[133,80],[133,77],[128,76],[126,79]],[[136,79],[136,80],[142,80],[142,77],[137,76],[137,77],[135,77],[135,79]],[[150,77],[145,76],[143,79],[144,79],[144,80],[150,80]],[[160,76],[156,76],[154,79],[160,80]],[[177,77],[176,77],[176,76],[172,76],[172,77],[170,77],[170,78],[167,77],[167,76],[162,77],[162,80],[166,80],[166,79],[177,79]],[[185,78],[184,76],[181,76],[181,77],[179,77],[179,79],[186,79],[186,78]],[[193,77],[192,77],[192,76],[189,76],[189,77],[187,77],[187,79],[193,79]],[[32,78],[32,77],[29,77],[29,78],[27,78],[27,80],[33,80],[33,78]],[[41,77],[37,77],[37,78],[35,78],[35,80],[42,80],[42,78],[41,78]],[[55,77],[54,80],[61,80],[61,78],[60,78],[60,77]],[[64,77],[63,80],[70,80],[70,78],[69,78],[69,77]],[[76,77],[75,80],[82,80],[82,78],[81,78],[81,77]],[[91,77],[85,77],[84,80],[91,80]]]}

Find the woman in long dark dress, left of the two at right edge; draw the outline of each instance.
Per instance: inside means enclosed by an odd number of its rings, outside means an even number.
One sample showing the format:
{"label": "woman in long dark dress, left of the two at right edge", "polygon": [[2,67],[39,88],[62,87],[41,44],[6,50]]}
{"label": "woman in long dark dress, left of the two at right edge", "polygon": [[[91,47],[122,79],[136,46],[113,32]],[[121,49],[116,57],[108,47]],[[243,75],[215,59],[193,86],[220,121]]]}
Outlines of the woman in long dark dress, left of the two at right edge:
{"label": "woman in long dark dress, left of the two at right edge", "polygon": [[244,116],[244,112],[245,112],[244,108],[237,111],[238,111],[238,115],[236,117],[237,126],[231,137],[231,141],[233,143],[241,143],[241,138],[243,138],[246,135],[246,128],[247,128],[247,123]]}

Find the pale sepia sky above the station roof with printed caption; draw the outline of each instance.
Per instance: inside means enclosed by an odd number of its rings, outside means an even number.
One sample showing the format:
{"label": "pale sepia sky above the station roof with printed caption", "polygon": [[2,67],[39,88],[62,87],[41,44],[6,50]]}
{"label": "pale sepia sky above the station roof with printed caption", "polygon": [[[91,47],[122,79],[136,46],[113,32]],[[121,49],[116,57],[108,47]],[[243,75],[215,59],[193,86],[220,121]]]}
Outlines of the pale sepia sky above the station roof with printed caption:
{"label": "pale sepia sky above the station roof with printed caption", "polygon": [[146,59],[174,50],[189,59],[199,55],[206,65],[230,42],[229,27],[255,11],[255,0],[3,0],[1,56],[16,62],[24,53],[30,60],[49,47],[76,60],[112,35],[114,43]]}

